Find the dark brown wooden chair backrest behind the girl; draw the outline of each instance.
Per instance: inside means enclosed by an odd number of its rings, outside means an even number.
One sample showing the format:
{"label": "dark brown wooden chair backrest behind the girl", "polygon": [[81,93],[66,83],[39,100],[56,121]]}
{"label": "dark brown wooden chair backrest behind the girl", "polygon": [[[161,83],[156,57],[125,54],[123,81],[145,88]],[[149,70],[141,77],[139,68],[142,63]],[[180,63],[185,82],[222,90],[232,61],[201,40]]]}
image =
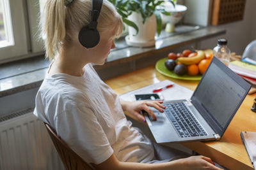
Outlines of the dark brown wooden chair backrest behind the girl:
{"label": "dark brown wooden chair backrest behind the girl", "polygon": [[75,153],[61,138],[51,129],[51,126],[45,124],[48,133],[51,136],[52,142],[58,151],[61,160],[67,170],[73,169],[92,169],[77,153]]}

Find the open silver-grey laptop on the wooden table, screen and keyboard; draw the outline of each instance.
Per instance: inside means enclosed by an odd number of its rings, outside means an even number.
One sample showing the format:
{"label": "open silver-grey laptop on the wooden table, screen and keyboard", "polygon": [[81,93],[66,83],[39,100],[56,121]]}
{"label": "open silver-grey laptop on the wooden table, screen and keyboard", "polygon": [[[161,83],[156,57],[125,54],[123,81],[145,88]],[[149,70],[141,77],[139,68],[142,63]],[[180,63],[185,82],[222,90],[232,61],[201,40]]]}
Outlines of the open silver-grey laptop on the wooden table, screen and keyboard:
{"label": "open silver-grey laptop on the wooden table, screen and keyboard", "polygon": [[145,115],[157,143],[219,140],[250,90],[249,83],[214,57],[190,99],[164,101],[164,113]]}

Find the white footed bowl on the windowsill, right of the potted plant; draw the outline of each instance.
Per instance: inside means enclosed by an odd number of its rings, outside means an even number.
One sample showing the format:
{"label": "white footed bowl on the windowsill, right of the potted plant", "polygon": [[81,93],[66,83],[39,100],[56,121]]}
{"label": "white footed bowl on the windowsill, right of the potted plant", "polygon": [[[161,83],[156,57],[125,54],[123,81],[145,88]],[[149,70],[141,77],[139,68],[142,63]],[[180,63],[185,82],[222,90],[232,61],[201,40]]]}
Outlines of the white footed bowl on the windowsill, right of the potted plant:
{"label": "white footed bowl on the windowsill, right of the potted plant", "polygon": [[171,15],[163,15],[161,13],[161,18],[163,23],[166,23],[165,31],[166,32],[174,32],[175,31],[175,24],[177,24],[182,17],[184,17],[188,8],[181,4],[176,4],[175,8],[173,7],[172,3],[164,2],[164,10],[168,11]]}

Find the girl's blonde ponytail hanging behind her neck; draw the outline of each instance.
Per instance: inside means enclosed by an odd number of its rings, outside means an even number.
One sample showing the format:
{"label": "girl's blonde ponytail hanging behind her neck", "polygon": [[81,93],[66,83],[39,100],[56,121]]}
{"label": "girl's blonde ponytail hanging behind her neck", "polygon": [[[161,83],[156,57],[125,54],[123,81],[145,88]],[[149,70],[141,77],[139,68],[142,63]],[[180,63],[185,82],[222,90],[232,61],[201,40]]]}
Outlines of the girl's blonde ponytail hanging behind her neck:
{"label": "girl's blonde ponytail hanging behind her neck", "polygon": [[45,56],[52,60],[65,39],[65,3],[64,0],[48,0],[44,16],[41,16],[42,36],[45,38]]}

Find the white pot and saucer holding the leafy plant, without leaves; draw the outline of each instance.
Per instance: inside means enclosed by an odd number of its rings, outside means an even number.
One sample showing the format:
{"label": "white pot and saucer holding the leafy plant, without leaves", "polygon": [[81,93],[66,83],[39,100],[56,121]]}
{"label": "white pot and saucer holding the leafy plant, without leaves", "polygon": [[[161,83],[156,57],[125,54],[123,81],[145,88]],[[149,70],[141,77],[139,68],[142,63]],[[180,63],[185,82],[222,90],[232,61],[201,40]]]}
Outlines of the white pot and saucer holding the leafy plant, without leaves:
{"label": "white pot and saucer holding the leafy plant, without leaves", "polygon": [[128,17],[129,20],[134,22],[138,28],[139,32],[136,34],[136,30],[133,27],[128,27],[129,35],[125,37],[127,45],[147,47],[155,45],[155,36],[156,36],[156,17],[152,15],[148,20],[143,24],[142,17],[139,13],[132,13]]}

